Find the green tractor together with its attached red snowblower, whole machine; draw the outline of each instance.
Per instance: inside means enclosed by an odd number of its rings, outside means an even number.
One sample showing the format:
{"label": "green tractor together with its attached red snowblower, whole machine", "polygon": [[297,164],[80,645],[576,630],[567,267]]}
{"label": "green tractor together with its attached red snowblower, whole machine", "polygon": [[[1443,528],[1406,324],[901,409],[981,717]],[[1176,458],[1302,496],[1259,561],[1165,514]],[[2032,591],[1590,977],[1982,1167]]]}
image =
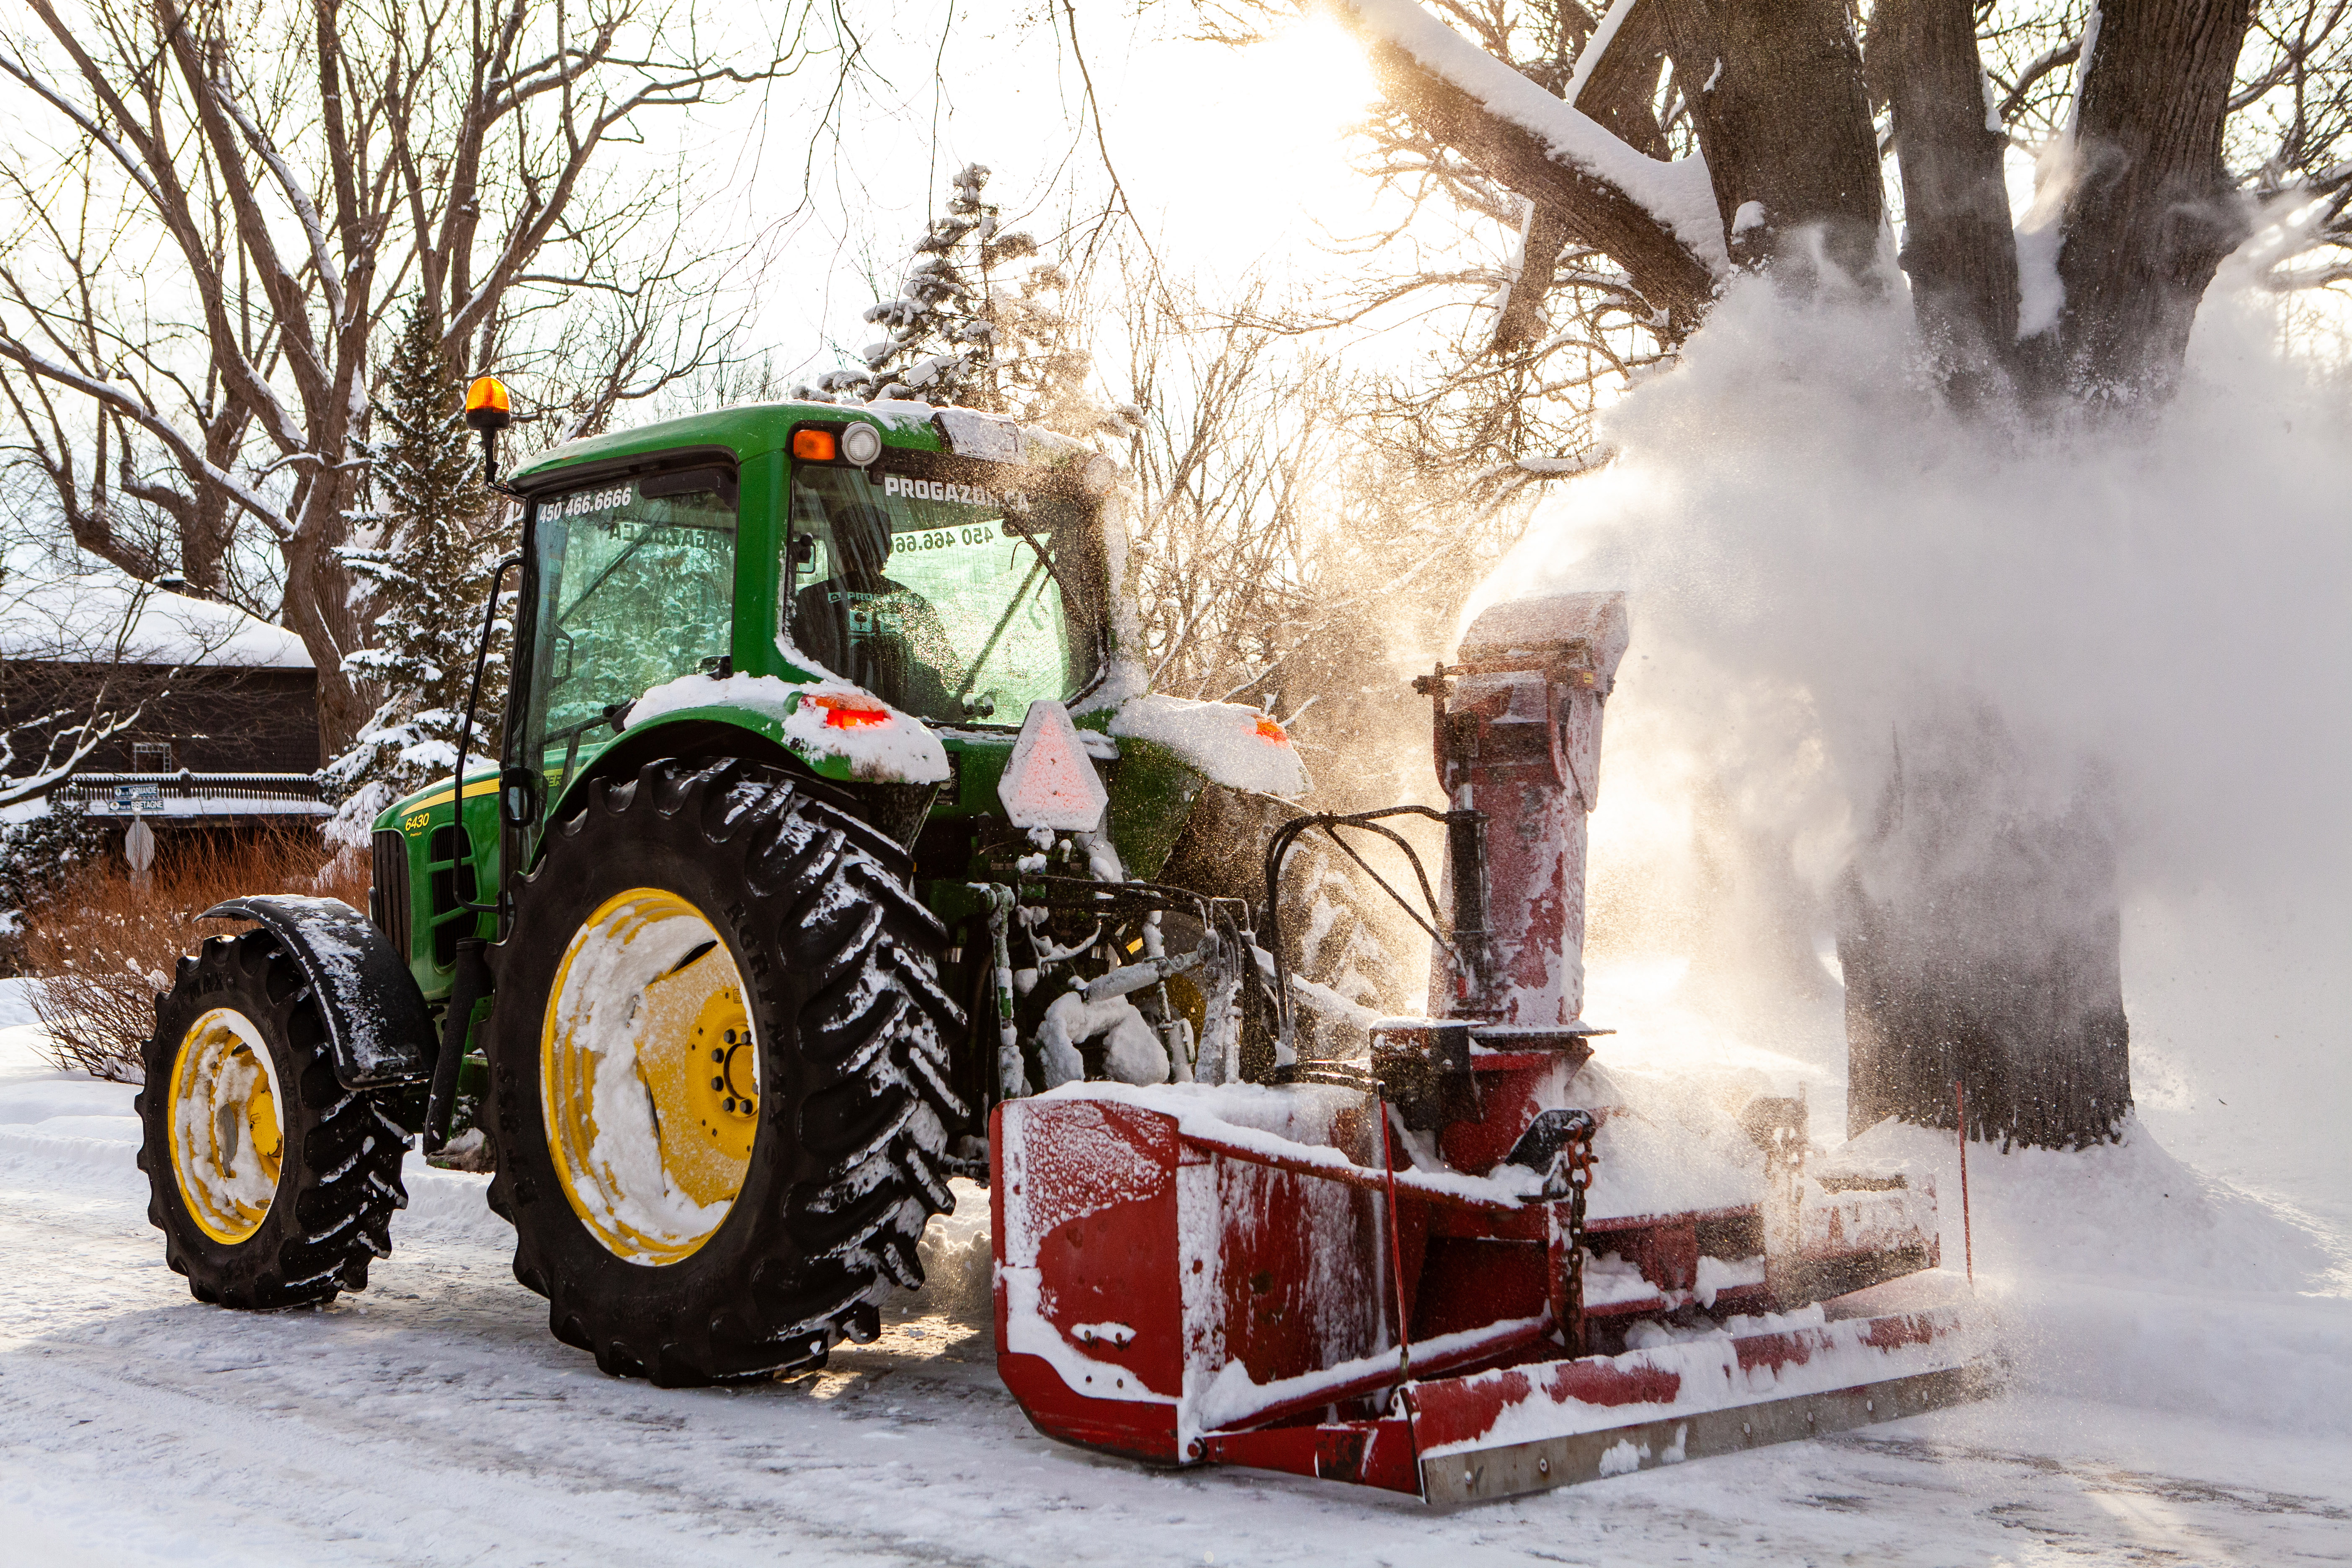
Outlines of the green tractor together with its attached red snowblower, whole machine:
{"label": "green tractor together with its attached red snowblower, whole machine", "polygon": [[[1898,1295],[1931,1192],[1809,1168],[1795,1100],[1592,1056],[1621,597],[1496,607],[1421,682],[1444,809],[1301,816],[1272,715],[1122,644],[1110,458],[913,407],[501,484],[463,778],[374,818],[365,919],[216,905],[158,999],[139,1161],[200,1300],[365,1288],[421,1143],[489,1173],[548,1331],[663,1387],[875,1340],[985,1178],[1007,1387],[1150,1462],[1444,1502],[1969,1389],[1950,1307]],[[508,418],[480,381],[468,423]]]}

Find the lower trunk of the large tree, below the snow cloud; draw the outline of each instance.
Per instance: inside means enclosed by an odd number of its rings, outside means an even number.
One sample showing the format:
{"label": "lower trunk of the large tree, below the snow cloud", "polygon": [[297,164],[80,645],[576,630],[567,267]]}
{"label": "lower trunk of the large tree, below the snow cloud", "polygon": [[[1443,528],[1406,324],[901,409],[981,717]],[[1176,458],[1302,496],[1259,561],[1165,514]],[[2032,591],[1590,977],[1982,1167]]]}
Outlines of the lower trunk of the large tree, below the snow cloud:
{"label": "lower trunk of the large tree, below the snow cloud", "polygon": [[2089,1147],[2131,1114],[2110,811],[2004,792],[2030,759],[1978,715],[1898,752],[1846,877],[1846,1131],[1898,1117],[2004,1145]]}

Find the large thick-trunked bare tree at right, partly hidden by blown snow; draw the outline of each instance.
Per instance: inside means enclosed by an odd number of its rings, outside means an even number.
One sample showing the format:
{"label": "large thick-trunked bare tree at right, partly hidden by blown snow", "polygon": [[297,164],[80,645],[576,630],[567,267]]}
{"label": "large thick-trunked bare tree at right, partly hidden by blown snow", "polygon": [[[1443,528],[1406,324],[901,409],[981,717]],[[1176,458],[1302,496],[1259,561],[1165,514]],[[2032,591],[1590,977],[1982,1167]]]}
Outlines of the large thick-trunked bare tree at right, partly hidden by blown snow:
{"label": "large thick-trunked bare tree at right, partly hidden by blown snow", "polygon": [[[1350,301],[1463,313],[1451,357],[1392,388],[1390,414],[1486,487],[1588,461],[1592,404],[1557,393],[1592,374],[1623,386],[1672,353],[1738,270],[1884,292],[1889,176],[1922,346],[1952,404],[1992,418],[2096,430],[2164,397],[2232,252],[2281,289],[2352,277],[2338,0],[1197,12],[1232,40],[1275,14],[1334,16],[1383,94],[1367,172],[1472,228],[1517,230],[1503,266],[1378,280]],[[2025,214],[2004,181],[2018,148],[2042,172]],[[1978,785],[2013,741],[1964,710],[1955,696],[1922,715],[1943,733],[1905,745],[1849,889],[1856,1114],[1950,1126],[1966,1077],[1980,1133],[2112,1135],[2131,1100],[2110,816],[2089,790],[1994,820],[1999,792]]]}

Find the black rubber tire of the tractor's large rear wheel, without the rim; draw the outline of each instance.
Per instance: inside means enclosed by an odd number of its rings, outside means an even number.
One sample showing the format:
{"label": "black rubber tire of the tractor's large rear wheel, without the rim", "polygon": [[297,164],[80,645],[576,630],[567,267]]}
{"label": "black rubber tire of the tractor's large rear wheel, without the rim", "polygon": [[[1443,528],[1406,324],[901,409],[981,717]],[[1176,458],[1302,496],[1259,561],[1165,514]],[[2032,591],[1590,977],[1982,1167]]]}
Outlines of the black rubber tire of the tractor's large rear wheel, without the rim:
{"label": "black rubber tire of the tractor's large rear wheel, without the rim", "polygon": [[[769,1126],[753,1159],[788,1150],[793,1168],[771,1211],[729,1215],[729,1227],[746,1218],[757,1225],[755,1244],[743,1276],[722,1281],[708,1309],[644,1321],[600,1300],[586,1274],[602,1265],[590,1258],[593,1267],[574,1276],[560,1258],[569,1237],[546,1229],[579,1227],[569,1204],[560,1192],[539,1192],[520,1161],[501,1157],[489,1201],[517,1222],[515,1276],[548,1298],[555,1338],[590,1349],[607,1373],[703,1385],[821,1361],[880,1281],[920,1284],[915,1244],[934,1213],[953,1208],[938,1161],[948,1128],[967,1117],[948,1088],[948,1041],[962,1009],[936,983],[946,929],[915,898],[906,849],[788,773],[743,759],[656,759],[635,778],[590,783],[581,809],[548,832],[539,867],[517,889],[515,936],[496,954],[506,992],[492,1020],[499,1147],[543,1147],[536,1053],[553,966],[541,973],[546,959],[524,957],[553,940],[536,931],[524,938],[541,884],[550,867],[633,835],[661,832],[713,877],[731,879],[734,912],[706,912],[727,914],[748,950],[746,990],[769,985],[793,999],[802,1088],[762,1091]],[[776,1048],[764,1046],[762,1072]],[[774,1131],[786,1138],[779,1143]]]}

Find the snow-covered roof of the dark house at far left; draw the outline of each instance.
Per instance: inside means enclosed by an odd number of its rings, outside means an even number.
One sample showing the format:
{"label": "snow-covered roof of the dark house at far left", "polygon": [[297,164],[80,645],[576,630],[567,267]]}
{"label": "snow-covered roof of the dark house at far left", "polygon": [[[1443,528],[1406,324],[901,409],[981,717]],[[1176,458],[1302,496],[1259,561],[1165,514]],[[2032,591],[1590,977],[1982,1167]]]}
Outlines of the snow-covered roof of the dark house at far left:
{"label": "snow-covered roof of the dark house at far left", "polygon": [[120,571],[0,581],[0,658],[310,670],[301,637]]}

